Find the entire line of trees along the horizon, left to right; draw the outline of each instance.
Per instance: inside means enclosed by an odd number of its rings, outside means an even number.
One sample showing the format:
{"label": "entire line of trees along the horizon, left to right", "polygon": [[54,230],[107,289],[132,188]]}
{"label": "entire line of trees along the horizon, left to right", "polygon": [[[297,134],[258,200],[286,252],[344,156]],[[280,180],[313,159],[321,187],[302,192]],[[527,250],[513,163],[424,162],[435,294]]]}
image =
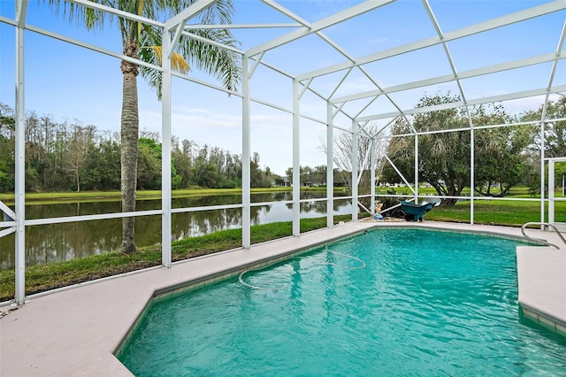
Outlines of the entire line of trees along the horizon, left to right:
{"label": "entire line of trees along the horizon, left to right", "polygon": [[[458,96],[424,96],[417,107],[455,102]],[[481,125],[474,132],[474,190],[481,196],[505,196],[510,188],[526,185],[537,193],[540,182],[539,156],[542,148],[540,127],[522,124],[497,127],[509,123],[538,121],[542,108],[521,116],[509,114],[501,104],[470,108],[474,124]],[[547,119],[558,119],[545,124],[545,156],[566,156],[566,98],[547,105]],[[48,115],[35,112],[25,119],[26,189],[27,191],[117,190],[120,188],[119,133],[100,131],[80,121],[57,122]],[[14,136],[13,110],[0,103],[0,192],[14,190]],[[486,127],[487,126],[487,127]],[[493,126],[493,127],[489,127]],[[461,196],[470,184],[471,134],[465,109],[448,109],[416,115],[409,125],[404,118],[394,123],[390,141],[375,144],[379,158],[377,181],[402,183],[401,172],[413,183],[415,142],[418,135],[419,181],[432,185],[441,196]],[[463,130],[455,131],[458,128]],[[369,126],[372,135],[377,129]],[[454,132],[440,132],[452,130]],[[424,135],[425,131],[432,134]],[[160,135],[142,131],[138,140],[137,188],[161,188]],[[325,150],[324,142],[320,148]],[[334,185],[351,186],[351,135],[339,135],[334,140]],[[370,151],[367,142],[358,143],[358,171],[363,172],[361,187],[369,188],[370,173],[365,158]],[[384,155],[393,162],[391,165]],[[557,179],[566,173],[564,165],[556,167]],[[281,177],[269,167],[260,167],[260,157],[250,161],[251,186],[254,188],[283,186],[293,181],[293,169]],[[302,185],[324,186],[326,166],[301,166]],[[172,188],[239,188],[241,187],[241,156],[207,144],[172,137]],[[449,202],[449,203],[448,203]],[[453,204],[456,199],[446,200]]]}

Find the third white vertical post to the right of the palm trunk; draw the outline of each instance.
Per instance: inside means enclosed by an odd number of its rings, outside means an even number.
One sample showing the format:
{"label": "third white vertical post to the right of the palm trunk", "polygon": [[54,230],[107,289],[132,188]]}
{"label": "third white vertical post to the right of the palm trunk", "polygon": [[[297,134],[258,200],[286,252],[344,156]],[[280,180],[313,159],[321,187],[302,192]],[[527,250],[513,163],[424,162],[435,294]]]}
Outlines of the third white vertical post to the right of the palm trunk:
{"label": "third white vertical post to the right of the palm trunk", "polygon": [[293,235],[301,235],[301,127],[299,81],[293,81]]}

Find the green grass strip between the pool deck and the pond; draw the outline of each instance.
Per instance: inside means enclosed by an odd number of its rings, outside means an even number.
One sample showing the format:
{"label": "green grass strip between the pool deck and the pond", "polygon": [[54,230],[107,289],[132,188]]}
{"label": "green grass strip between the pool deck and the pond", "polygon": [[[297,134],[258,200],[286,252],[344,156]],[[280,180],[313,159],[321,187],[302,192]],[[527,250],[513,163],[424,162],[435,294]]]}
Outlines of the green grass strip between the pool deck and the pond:
{"label": "green grass strip between the pool deck and the pond", "polygon": [[[348,221],[349,215],[335,216],[334,221]],[[326,227],[326,218],[302,219],[301,232]],[[293,234],[291,221],[251,227],[252,243],[266,242]],[[241,247],[241,229],[224,230],[210,235],[187,238],[172,244],[173,261],[195,258],[222,250]],[[106,276],[127,273],[161,264],[161,247],[139,248],[132,255],[111,252],[103,255],[51,263],[33,265],[26,268],[26,294],[57,289],[82,281],[92,281]],[[14,297],[14,271],[0,272],[0,301]]]}

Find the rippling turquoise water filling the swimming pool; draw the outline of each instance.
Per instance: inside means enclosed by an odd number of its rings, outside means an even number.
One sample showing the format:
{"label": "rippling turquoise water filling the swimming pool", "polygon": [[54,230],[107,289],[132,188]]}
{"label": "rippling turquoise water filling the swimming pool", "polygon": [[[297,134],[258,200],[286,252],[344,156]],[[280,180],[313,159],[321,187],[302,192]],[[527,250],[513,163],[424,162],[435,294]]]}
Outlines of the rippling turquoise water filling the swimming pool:
{"label": "rippling turquoise water filling the swimming pool", "polygon": [[375,229],[162,298],[119,359],[138,376],[564,375],[566,339],[520,318],[517,244]]}

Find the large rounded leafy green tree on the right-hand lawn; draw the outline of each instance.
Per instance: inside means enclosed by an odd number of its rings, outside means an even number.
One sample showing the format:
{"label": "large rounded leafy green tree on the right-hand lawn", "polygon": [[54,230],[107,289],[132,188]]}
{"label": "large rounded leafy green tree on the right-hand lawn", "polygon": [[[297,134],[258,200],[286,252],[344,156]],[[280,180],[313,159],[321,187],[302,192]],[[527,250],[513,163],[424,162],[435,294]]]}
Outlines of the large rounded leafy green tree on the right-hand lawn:
{"label": "large rounded leafy green tree on the right-hand lawn", "polygon": [[[459,96],[424,96],[417,107],[448,104],[460,100]],[[501,104],[476,106],[469,109],[476,126],[502,125],[514,121]],[[418,135],[419,181],[427,182],[440,196],[461,196],[463,188],[470,186],[470,131],[465,109],[447,109],[417,114],[412,119],[417,133],[432,131],[432,134]],[[441,132],[447,131],[447,132]],[[405,119],[398,119],[394,135],[410,135],[412,129]],[[524,150],[531,142],[529,127],[494,127],[475,132],[476,191],[482,195],[493,195],[493,183],[500,187],[502,196],[521,181],[524,166]],[[413,136],[394,137],[387,155],[407,181],[414,182],[415,147]],[[384,170],[384,180],[401,181],[393,167]],[[442,200],[452,205],[457,198]]]}

